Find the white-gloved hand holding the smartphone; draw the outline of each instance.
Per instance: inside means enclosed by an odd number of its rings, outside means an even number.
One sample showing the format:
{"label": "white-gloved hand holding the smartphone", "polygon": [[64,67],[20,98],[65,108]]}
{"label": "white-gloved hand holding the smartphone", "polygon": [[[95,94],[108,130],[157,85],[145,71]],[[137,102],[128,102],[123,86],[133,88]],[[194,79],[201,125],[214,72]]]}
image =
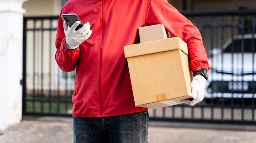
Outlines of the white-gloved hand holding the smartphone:
{"label": "white-gloved hand holding the smartphone", "polygon": [[87,22],[78,30],[76,27],[81,24],[80,21],[74,22],[74,24],[69,27],[64,21],[63,28],[66,36],[66,45],[69,49],[76,49],[83,41],[87,40],[92,35],[92,30],[90,30],[90,23]]}

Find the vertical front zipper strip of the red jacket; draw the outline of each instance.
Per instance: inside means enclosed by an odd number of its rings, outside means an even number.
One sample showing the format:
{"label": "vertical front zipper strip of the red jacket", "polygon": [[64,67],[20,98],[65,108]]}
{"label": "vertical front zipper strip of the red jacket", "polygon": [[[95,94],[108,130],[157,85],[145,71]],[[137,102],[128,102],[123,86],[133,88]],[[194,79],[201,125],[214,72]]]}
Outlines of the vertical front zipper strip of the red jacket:
{"label": "vertical front zipper strip of the red jacket", "polygon": [[101,39],[101,47],[99,53],[99,102],[100,102],[100,117],[102,117],[102,95],[101,95],[101,64],[102,64],[102,49],[103,49],[103,41],[105,35],[105,1],[102,0],[102,39]]}

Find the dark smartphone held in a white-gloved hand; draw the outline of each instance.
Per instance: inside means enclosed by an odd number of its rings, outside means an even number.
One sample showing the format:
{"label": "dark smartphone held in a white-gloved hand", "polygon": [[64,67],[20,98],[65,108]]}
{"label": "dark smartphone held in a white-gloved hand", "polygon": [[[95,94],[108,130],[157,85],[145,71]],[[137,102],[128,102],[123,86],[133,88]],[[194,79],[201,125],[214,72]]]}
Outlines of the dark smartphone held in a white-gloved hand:
{"label": "dark smartphone held in a white-gloved hand", "polygon": [[[72,24],[74,24],[75,21],[80,21],[81,22],[81,20],[76,15],[76,13],[62,14],[61,17],[63,18],[63,20],[65,20],[65,22],[67,23],[67,25],[69,27],[71,27]],[[79,24],[79,26],[77,26],[75,30],[78,30],[81,27],[83,27],[83,22],[81,22],[81,24]]]}

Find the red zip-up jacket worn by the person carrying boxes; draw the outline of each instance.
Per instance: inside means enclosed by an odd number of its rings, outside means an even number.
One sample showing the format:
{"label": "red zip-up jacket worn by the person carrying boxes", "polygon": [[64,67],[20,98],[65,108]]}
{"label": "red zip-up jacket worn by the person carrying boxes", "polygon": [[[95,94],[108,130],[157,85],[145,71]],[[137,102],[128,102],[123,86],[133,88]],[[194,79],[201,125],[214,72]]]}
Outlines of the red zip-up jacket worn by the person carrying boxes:
{"label": "red zip-up jacket worn by the person carrying boxes", "polygon": [[65,46],[63,20],[56,35],[56,61],[64,72],[76,68],[72,96],[74,117],[107,117],[135,113],[124,45],[139,43],[138,28],[164,24],[173,37],[189,47],[190,67],[209,70],[207,54],[198,28],[167,0],[69,0],[61,13],[76,13],[90,22],[92,35],[76,50]]}

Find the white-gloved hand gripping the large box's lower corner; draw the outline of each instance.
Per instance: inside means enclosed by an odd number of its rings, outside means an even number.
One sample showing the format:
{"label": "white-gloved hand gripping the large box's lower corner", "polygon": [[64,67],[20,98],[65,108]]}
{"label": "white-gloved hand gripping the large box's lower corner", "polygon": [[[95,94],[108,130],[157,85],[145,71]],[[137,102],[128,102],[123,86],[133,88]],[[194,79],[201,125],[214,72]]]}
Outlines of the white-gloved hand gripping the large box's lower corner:
{"label": "white-gloved hand gripping the large box's lower corner", "polygon": [[206,79],[202,75],[197,75],[193,77],[191,82],[192,98],[193,100],[182,100],[183,103],[194,106],[195,104],[201,102],[204,99],[204,87]]}

